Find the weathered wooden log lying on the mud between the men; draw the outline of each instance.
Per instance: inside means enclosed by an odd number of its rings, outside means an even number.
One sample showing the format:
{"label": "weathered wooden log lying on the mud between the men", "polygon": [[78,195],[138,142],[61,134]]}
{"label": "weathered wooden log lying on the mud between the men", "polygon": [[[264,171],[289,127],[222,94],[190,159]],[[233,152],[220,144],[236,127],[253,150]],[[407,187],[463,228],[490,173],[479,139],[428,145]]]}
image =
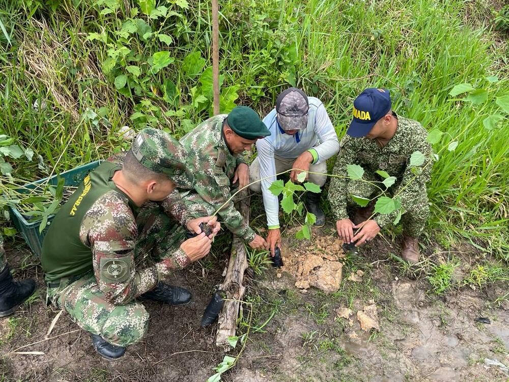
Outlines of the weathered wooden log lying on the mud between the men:
{"label": "weathered wooden log lying on the mud between the men", "polygon": [[[247,190],[238,195],[237,210],[249,223],[249,201]],[[228,346],[228,337],[235,336],[237,330],[237,318],[239,317],[240,300],[246,288],[242,285],[244,271],[247,268],[247,252],[244,240],[234,235],[232,254],[228,263],[228,270],[224,282],[219,286],[226,294],[226,298],[236,301],[225,301],[221,313],[219,313],[216,345]]]}

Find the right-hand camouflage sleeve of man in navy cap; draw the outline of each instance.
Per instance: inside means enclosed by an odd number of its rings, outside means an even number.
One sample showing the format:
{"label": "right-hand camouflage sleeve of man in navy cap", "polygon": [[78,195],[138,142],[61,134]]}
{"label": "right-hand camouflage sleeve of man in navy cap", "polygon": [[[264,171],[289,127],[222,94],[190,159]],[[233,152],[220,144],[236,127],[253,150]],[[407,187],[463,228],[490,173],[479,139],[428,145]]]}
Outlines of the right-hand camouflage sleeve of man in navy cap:
{"label": "right-hand camouflage sleeve of man in navy cap", "polygon": [[[406,206],[413,203],[414,200],[420,199],[423,189],[426,189],[426,182],[431,178],[431,169],[434,161],[433,149],[426,140],[426,133],[414,135],[410,139],[413,142],[409,142],[408,147],[412,147],[412,152],[408,154],[407,163],[410,163],[410,155],[414,151],[420,151],[426,159],[422,166],[410,167],[407,165],[399,186],[394,190],[394,195],[401,198],[403,212],[408,210]],[[415,170],[412,171],[412,169]],[[392,223],[396,216],[398,216],[398,211],[389,214],[378,214],[374,220],[382,228]]]}

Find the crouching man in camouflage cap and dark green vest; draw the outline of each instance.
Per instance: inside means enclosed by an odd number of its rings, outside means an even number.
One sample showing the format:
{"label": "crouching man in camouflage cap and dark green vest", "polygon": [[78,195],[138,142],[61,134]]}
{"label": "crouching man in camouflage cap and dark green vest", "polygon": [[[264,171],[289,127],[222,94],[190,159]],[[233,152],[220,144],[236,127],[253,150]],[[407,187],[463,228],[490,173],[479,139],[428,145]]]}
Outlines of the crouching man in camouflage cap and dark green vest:
{"label": "crouching man in camouflage cap and dark green vest", "polygon": [[[220,229],[215,217],[192,219],[172,193],[193,186],[186,156],[170,135],[142,130],[127,153],[83,179],[44,238],[47,301],[90,333],[103,358],[121,357],[147,332],[149,315],[137,299],[190,301],[187,290],[162,280],[204,257]],[[183,227],[198,236],[184,241]]]}

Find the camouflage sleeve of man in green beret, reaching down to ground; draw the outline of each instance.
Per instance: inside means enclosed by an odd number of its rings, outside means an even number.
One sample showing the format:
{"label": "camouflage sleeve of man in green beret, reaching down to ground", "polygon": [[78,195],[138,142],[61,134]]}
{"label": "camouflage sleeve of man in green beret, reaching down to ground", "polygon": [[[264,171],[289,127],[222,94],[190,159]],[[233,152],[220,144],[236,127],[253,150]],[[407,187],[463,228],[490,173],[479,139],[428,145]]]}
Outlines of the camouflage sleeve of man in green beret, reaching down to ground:
{"label": "camouflage sleeve of man in green beret, reaching down to ground", "polygon": [[[230,179],[222,168],[215,166],[215,157],[217,155],[207,155],[202,158],[202,168],[195,174],[196,184],[194,188],[206,203],[217,210],[232,195],[230,193]],[[233,234],[242,237],[247,242],[254,240],[256,234],[246,223],[240,212],[235,209],[233,200],[222,207],[218,214],[221,217],[220,220]]]}

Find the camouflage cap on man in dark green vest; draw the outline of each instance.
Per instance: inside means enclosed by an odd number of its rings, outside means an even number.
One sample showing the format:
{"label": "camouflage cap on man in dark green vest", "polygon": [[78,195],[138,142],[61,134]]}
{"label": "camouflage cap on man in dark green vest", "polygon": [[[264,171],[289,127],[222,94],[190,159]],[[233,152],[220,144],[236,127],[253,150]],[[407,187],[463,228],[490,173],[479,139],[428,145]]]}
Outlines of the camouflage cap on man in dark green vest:
{"label": "camouflage cap on man in dark green vest", "polygon": [[131,151],[143,166],[166,175],[178,188],[193,188],[194,176],[187,168],[187,152],[164,131],[146,128],[132,143]]}

